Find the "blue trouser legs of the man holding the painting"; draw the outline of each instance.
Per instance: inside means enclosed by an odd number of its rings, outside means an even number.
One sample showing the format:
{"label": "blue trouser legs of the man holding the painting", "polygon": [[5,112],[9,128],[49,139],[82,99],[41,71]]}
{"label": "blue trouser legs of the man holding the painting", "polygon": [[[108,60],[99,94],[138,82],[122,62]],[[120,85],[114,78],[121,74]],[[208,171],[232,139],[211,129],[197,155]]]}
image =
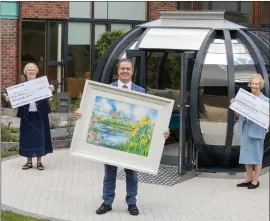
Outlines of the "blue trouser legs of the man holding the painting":
{"label": "blue trouser legs of the man holding the painting", "polygon": [[[134,170],[125,169],[126,172],[126,202],[128,205],[136,204],[138,191],[138,177]],[[112,205],[115,197],[117,167],[105,164],[102,199],[107,205]]]}

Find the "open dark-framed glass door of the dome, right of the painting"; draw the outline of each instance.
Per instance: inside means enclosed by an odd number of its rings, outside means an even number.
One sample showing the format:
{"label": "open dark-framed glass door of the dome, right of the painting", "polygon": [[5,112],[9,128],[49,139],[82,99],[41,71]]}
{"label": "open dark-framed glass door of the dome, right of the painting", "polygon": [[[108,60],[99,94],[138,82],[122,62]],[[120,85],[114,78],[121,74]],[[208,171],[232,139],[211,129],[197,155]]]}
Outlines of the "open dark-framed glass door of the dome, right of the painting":
{"label": "open dark-framed glass door of the dome, right of the painting", "polygon": [[193,170],[194,167],[195,157],[190,127],[190,87],[195,57],[195,52],[181,54],[179,175]]}

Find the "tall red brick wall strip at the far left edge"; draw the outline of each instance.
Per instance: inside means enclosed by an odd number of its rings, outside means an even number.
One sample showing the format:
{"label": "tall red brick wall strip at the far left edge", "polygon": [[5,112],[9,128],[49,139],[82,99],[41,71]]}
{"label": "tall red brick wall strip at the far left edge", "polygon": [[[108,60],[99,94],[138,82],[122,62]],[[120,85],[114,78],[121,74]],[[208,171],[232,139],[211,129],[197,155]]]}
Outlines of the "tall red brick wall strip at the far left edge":
{"label": "tall red brick wall strip at the far left edge", "polygon": [[1,20],[1,90],[16,84],[18,21]]}

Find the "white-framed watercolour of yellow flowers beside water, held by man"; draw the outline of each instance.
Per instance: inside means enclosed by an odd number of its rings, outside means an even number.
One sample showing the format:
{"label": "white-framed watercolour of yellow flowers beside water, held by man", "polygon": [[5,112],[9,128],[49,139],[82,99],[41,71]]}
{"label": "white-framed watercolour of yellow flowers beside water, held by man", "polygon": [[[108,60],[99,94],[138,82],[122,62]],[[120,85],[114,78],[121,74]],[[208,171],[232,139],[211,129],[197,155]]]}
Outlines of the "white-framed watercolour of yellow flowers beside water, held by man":
{"label": "white-framed watercolour of yellow flowers beside water, held by man", "polygon": [[174,101],[86,80],[71,155],[157,174]]}

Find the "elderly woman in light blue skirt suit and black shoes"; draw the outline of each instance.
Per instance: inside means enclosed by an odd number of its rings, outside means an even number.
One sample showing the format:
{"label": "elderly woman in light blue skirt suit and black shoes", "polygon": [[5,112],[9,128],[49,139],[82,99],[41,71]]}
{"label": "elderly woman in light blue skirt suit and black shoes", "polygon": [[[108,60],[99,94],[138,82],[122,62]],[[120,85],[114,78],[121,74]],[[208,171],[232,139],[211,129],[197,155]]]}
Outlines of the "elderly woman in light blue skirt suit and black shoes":
{"label": "elderly woman in light blue skirt suit and black shoes", "polygon": [[[264,87],[264,80],[260,74],[251,76],[248,87],[251,88],[253,95],[269,102],[269,99],[261,92],[261,89]],[[234,102],[234,99],[231,100],[232,102]],[[247,173],[245,180],[237,184],[237,187],[247,187],[248,189],[259,187],[265,134],[266,130],[263,127],[239,115],[238,135],[241,136],[239,163],[245,164]],[[255,174],[253,176],[254,165]]]}

